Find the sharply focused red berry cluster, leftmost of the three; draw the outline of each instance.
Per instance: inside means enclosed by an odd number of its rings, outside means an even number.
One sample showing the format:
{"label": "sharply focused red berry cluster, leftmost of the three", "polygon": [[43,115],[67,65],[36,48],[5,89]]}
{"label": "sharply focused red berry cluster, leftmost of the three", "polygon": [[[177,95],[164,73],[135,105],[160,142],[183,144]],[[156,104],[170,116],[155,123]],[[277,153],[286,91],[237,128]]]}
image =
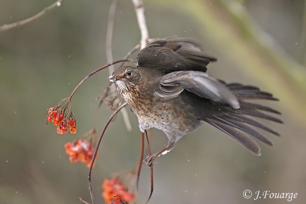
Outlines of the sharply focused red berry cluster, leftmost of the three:
{"label": "sharply focused red berry cluster, leftmost of the three", "polygon": [[68,132],[68,128],[71,133],[76,133],[75,120],[73,119],[72,114],[65,116],[65,113],[59,108],[52,107],[49,109],[47,121],[52,121],[54,125],[58,126],[56,129],[58,134]]}

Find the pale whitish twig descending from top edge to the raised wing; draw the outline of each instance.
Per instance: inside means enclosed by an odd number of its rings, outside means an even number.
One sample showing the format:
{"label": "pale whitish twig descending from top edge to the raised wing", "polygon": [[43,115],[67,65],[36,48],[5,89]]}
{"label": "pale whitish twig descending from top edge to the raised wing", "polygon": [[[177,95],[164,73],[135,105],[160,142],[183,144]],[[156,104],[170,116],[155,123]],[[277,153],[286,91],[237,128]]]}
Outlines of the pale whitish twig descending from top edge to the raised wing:
{"label": "pale whitish twig descending from top edge to the raised wing", "polygon": [[147,45],[147,39],[149,38],[146,18],[144,16],[144,6],[143,6],[142,0],[132,0],[132,2],[135,7],[135,13],[136,13],[140,33],[141,33],[140,49],[143,49]]}

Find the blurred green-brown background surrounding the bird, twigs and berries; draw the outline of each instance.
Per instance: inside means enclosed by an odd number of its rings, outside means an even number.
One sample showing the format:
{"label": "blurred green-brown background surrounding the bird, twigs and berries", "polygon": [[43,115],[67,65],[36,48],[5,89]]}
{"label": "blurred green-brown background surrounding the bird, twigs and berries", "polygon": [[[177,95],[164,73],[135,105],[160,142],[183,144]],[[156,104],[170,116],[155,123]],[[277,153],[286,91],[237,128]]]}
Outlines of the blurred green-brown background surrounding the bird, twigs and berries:
{"label": "blurred green-brown background surrounding the bird, twigs and berries", "polygon": [[[41,11],[53,0],[0,0],[0,25]],[[77,133],[59,135],[46,126],[47,109],[67,98],[91,71],[107,64],[105,37],[110,1],[65,0],[23,27],[0,32],[0,203],[80,203],[90,201],[88,168],[70,163],[64,144],[92,128],[109,81],[107,70],[87,80],[73,97]],[[150,38],[170,35],[198,39],[218,58],[208,73],[226,82],[260,87],[279,98],[262,104],[282,112],[284,124],[262,121],[280,138],[264,132],[274,147],[260,143],[257,157],[208,124],[186,135],[156,159],[150,203],[287,203],[254,200],[255,191],[298,193],[306,199],[306,2],[304,0],[144,0]],[[113,57],[121,59],[140,40],[131,1],[119,0],[114,18]],[[132,55],[136,58],[136,53]],[[96,203],[104,203],[101,183],[133,169],[140,131],[129,109],[132,132],[119,113],[102,139],[92,172]],[[112,113],[104,104],[98,132]],[[167,144],[151,131],[151,151]],[[147,156],[147,153],[145,153]],[[253,192],[251,199],[243,191]],[[149,169],[140,176],[137,203],[150,192]]]}

